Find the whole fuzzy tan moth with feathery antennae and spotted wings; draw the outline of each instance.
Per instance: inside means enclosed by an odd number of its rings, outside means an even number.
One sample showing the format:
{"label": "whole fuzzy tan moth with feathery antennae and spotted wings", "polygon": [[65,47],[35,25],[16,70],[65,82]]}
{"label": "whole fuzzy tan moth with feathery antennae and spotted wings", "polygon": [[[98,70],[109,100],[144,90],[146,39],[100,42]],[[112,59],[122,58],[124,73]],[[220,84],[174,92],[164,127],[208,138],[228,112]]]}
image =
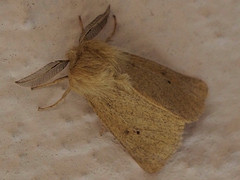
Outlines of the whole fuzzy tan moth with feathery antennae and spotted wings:
{"label": "whole fuzzy tan moth with feathery antennae and spotted wings", "polygon": [[[68,79],[62,97],[39,110],[56,106],[71,90],[77,92],[139,166],[154,173],[180,145],[184,126],[199,118],[208,88],[202,80],[110,46],[114,15],[111,35],[106,41],[94,40],[109,14],[110,6],[85,28],[79,16],[79,45],[68,51],[68,59],[51,62],[16,83],[34,89]],[[66,76],[46,83],[67,65]]]}

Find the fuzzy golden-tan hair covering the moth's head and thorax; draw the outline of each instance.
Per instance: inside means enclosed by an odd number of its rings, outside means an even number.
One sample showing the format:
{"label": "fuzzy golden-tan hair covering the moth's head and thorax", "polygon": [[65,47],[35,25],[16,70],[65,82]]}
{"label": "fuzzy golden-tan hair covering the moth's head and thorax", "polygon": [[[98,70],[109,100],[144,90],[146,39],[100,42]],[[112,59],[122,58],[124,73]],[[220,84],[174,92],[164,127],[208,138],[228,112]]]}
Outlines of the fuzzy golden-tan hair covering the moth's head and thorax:
{"label": "fuzzy golden-tan hair covering the moth's head and thorax", "polygon": [[129,85],[128,75],[118,65],[128,56],[105,42],[85,41],[67,56],[70,60],[69,83],[80,94],[101,96],[116,86]]}

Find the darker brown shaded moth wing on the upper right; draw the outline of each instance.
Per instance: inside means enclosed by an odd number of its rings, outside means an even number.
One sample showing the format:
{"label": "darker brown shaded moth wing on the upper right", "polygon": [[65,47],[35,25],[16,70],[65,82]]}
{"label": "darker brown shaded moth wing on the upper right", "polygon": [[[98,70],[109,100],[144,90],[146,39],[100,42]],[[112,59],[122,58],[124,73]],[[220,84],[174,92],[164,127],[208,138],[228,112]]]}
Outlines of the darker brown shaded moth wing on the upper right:
{"label": "darker brown shaded moth wing on the upper right", "polygon": [[118,63],[140,94],[184,118],[186,122],[198,119],[208,91],[202,80],[177,73],[136,55],[125,55],[127,58]]}

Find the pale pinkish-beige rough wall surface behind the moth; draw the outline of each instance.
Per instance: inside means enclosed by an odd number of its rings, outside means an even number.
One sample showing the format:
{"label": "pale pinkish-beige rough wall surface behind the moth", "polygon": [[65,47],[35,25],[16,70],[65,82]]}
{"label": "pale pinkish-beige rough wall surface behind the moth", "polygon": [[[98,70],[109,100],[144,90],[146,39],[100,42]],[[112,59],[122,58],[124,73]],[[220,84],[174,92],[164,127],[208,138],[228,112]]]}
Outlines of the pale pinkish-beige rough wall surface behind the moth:
{"label": "pale pinkish-beige rough wall surface behind the moth", "polygon": [[[108,4],[117,16],[110,44],[209,86],[205,112],[156,174],[145,173],[67,83],[31,91],[18,80],[65,59],[80,27]],[[0,177],[27,179],[240,179],[240,2],[237,0],[1,0]],[[113,20],[98,38],[112,29]]]}

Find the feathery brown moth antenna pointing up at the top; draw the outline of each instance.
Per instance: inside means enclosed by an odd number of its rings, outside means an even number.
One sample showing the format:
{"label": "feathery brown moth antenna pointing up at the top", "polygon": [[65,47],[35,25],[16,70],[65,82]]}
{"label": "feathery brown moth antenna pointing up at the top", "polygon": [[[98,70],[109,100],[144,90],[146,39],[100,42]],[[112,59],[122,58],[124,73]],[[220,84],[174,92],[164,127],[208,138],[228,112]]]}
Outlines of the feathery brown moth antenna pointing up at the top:
{"label": "feathery brown moth antenna pointing up at the top", "polygon": [[90,24],[84,28],[83,33],[79,38],[79,43],[93,39],[106,25],[110,13],[110,5],[103,14],[97,16]]}

